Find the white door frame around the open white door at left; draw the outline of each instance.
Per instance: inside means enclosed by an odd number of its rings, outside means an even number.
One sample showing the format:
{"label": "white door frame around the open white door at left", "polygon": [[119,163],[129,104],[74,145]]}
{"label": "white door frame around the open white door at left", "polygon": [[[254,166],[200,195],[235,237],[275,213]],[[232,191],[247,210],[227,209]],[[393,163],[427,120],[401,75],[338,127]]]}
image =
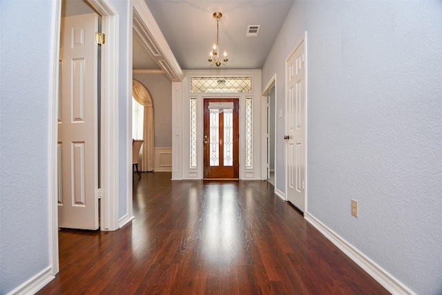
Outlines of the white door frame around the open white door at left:
{"label": "white door frame around the open white door at left", "polygon": [[[102,30],[106,32],[106,47],[102,48],[102,230],[118,228],[118,11],[109,0],[88,0],[90,6],[102,15]],[[50,57],[50,97],[48,132],[48,233],[49,263],[52,276],[59,272],[58,202],[57,202],[57,143],[59,95],[59,44],[61,0],[52,8],[52,54]],[[104,199],[103,196],[106,196]]]}

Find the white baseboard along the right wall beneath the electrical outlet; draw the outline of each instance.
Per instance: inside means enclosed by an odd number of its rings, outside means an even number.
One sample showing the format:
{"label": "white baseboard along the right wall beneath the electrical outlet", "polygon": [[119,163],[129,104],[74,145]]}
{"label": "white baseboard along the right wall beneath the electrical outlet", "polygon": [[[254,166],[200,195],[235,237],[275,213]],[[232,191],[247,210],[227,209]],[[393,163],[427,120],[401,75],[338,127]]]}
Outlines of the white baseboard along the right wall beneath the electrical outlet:
{"label": "white baseboard along the right wall beneath the electrical outlet", "polygon": [[388,273],[374,263],[373,260],[365,256],[361,251],[356,249],[352,244],[344,240],[332,229],[329,229],[326,225],[312,216],[309,212],[305,212],[305,220],[313,225],[325,238],[329,239],[336,247],[343,251],[350,259],[359,265],[367,272],[372,278],[374,278],[379,284],[381,284],[391,294],[416,294],[412,292],[407,286],[403,285],[398,279],[394,278],[392,274]]}

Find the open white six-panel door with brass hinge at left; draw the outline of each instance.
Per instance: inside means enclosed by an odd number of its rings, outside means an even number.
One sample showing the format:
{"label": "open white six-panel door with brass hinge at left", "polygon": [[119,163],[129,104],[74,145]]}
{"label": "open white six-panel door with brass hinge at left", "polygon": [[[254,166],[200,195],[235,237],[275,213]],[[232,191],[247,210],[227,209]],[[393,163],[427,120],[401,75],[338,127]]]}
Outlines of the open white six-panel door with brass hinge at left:
{"label": "open white six-panel door with brass hinge at left", "polygon": [[98,15],[61,18],[59,227],[98,229]]}

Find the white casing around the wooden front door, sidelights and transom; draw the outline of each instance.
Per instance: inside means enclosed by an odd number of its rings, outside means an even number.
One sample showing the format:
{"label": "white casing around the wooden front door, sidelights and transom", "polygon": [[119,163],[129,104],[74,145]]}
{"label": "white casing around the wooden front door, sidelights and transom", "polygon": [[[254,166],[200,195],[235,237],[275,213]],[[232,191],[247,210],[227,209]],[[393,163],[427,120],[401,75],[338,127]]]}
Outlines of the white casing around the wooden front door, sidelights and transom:
{"label": "white casing around the wooden front door, sidelights and transom", "polygon": [[[220,75],[220,73],[222,73]],[[245,165],[245,104],[247,97],[252,99],[252,120],[260,120],[260,86],[261,70],[184,70],[185,77],[180,83],[173,83],[172,108],[172,179],[173,180],[201,180],[203,179],[203,100],[232,98],[239,99],[239,178],[240,180],[261,179],[261,128],[260,125],[252,128],[252,166]],[[251,77],[252,89],[250,93],[192,93],[192,77]],[[196,99],[197,111],[197,166],[190,165],[190,100]],[[256,121],[255,121],[256,122]]]}

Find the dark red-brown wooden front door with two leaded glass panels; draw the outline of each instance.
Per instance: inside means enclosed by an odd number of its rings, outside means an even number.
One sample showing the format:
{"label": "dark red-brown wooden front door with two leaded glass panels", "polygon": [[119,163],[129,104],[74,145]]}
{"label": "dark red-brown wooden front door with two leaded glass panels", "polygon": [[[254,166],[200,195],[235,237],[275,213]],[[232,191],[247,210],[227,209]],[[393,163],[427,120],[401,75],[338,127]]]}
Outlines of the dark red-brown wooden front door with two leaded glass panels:
{"label": "dark red-brown wooden front door with two leaded glass panels", "polygon": [[239,178],[238,99],[204,99],[204,178]]}

